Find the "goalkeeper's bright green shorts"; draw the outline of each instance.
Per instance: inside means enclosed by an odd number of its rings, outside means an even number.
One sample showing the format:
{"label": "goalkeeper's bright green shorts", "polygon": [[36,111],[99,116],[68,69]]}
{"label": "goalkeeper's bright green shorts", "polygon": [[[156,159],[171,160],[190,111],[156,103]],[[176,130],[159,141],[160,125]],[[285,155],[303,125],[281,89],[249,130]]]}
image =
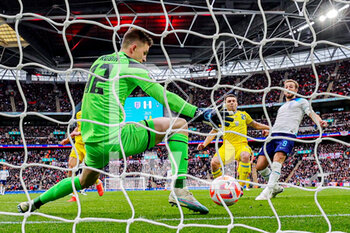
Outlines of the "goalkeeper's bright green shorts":
{"label": "goalkeeper's bright green shorts", "polygon": [[[143,120],[140,124],[154,129],[153,120]],[[156,133],[136,124],[127,124],[121,131],[121,142],[125,156],[144,152],[155,146]],[[104,168],[111,159],[123,158],[120,144],[108,142],[85,143],[85,164],[93,168]]]}

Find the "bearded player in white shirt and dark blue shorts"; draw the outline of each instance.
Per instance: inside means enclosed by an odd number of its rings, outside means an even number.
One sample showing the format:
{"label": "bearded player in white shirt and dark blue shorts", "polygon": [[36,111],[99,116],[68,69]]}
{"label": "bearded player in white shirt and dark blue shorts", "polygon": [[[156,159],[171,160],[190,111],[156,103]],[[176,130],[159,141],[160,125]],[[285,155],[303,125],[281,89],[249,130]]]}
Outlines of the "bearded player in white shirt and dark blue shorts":
{"label": "bearded player in white shirt and dark blue shorts", "polygon": [[[284,88],[297,93],[299,84],[295,80],[288,79],[284,82]],[[295,94],[287,91],[284,92],[284,96],[286,97],[286,103],[278,109],[276,121],[272,127],[272,136],[296,138],[304,114],[307,114],[322,127],[327,127],[327,122],[323,121],[319,115],[310,109],[306,99],[298,98]],[[272,161],[271,170],[267,167],[269,163],[264,154],[264,149],[261,148],[256,170],[268,180],[268,184],[255,200],[267,200],[283,192],[283,188],[277,182],[281,176],[282,164],[287,156],[290,156],[293,146],[294,141],[286,139],[273,139],[266,144],[266,151]]]}

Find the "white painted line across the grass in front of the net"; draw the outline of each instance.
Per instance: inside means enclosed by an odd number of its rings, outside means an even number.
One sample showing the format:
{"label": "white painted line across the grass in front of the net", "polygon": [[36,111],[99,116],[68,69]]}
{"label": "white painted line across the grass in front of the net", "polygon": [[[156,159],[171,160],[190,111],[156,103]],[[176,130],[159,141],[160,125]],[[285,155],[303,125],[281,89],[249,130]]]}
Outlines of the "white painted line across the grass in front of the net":
{"label": "white painted line across the grass in front of the net", "polygon": [[[327,217],[349,217],[350,214],[329,214]],[[279,218],[321,218],[323,215],[282,215],[279,216]],[[274,219],[275,216],[246,216],[246,217],[234,217],[234,219]],[[137,219],[137,218],[136,218]],[[213,217],[213,218],[185,218],[185,221],[205,221],[205,220],[228,220],[229,217]],[[181,218],[160,218],[160,219],[149,219],[153,221],[180,221]],[[84,221],[84,222],[95,222],[95,221]],[[63,221],[27,221],[26,224],[50,224],[50,223],[69,223],[70,222],[63,222]],[[22,221],[14,221],[14,222],[0,222],[0,225],[6,225],[6,224],[22,224]]]}

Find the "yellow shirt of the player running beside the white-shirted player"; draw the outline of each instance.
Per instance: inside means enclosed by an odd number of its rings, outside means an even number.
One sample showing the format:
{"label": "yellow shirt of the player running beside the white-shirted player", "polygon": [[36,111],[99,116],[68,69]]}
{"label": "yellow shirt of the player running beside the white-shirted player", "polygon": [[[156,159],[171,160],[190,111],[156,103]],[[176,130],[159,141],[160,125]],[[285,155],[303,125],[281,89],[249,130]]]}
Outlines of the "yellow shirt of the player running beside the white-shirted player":
{"label": "yellow shirt of the player running beside the white-shirted player", "polygon": [[[236,111],[233,116],[229,117],[233,118],[233,122],[229,122],[230,126],[225,126],[225,131],[234,131],[243,135],[247,135],[247,125],[253,122],[251,116],[245,111]],[[223,139],[228,140],[231,144],[248,143],[246,137],[242,137],[234,133],[225,132]]]}

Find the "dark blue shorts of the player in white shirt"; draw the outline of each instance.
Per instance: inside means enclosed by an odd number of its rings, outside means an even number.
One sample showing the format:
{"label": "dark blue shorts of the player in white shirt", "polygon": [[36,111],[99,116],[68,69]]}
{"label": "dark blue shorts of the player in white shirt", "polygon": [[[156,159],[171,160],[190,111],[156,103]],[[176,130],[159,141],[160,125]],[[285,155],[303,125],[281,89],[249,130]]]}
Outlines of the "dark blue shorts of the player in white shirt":
{"label": "dark blue shorts of the player in white shirt", "polygon": [[[287,133],[273,133],[271,136],[284,136],[284,137],[290,137],[290,138],[296,138],[294,134],[287,134]],[[271,142],[266,144],[266,151],[270,157],[270,159],[273,159],[273,156],[276,152],[284,152],[287,156],[290,155],[290,152],[292,152],[294,146],[294,141],[286,140],[286,139],[273,139]],[[262,147],[259,151],[259,156],[265,155],[264,154],[264,147]]]}

